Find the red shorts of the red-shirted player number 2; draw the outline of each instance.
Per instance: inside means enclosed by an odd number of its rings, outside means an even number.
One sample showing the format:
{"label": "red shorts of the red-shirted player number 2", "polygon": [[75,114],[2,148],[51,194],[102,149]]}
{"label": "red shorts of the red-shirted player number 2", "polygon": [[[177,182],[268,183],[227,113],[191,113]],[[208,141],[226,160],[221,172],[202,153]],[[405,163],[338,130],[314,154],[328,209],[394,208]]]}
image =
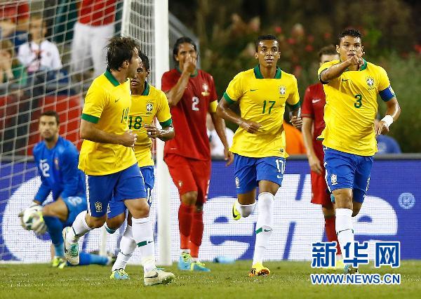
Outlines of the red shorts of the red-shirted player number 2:
{"label": "red shorts of the red-shirted player number 2", "polygon": [[187,192],[196,191],[196,203],[204,204],[208,199],[210,160],[202,161],[178,154],[166,154],[164,161],[180,197]]}

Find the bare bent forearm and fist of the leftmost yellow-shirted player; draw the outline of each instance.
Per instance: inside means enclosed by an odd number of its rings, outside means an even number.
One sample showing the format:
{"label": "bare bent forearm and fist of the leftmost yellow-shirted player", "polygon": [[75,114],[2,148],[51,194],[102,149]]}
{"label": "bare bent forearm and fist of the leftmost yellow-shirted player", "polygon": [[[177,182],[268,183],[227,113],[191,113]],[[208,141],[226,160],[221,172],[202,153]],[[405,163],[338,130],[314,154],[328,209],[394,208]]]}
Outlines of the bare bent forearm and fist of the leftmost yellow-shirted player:
{"label": "bare bent forearm and fist of the leftmost yellow-shirted player", "polygon": [[112,143],[116,145],[124,145],[126,147],[134,147],[136,142],[136,135],[131,130],[124,132],[121,135],[109,133],[96,128],[91,121],[81,119],[81,128],[79,135],[82,139],[91,140],[93,142]]}

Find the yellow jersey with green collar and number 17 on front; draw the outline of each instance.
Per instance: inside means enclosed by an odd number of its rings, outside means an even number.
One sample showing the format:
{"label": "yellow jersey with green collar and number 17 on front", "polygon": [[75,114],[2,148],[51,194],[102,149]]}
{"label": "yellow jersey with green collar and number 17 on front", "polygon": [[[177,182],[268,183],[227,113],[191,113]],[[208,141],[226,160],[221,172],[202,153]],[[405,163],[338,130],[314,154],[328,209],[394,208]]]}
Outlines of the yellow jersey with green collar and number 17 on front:
{"label": "yellow jersey with green collar and number 17 on front", "polygon": [[259,66],[241,72],[229,82],[224,93],[227,102],[239,101],[241,118],[261,124],[251,134],[239,127],[231,152],[245,157],[288,157],[285,150],[283,113],[285,105],[300,106],[297,79],[276,67],[274,79],[264,79]]}

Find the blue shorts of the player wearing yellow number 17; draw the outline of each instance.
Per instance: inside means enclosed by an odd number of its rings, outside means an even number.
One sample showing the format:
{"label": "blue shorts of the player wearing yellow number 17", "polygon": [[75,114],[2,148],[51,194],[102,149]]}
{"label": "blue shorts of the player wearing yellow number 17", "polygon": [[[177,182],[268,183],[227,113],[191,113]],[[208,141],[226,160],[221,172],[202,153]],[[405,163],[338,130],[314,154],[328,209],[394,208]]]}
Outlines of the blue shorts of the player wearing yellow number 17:
{"label": "blue shorts of the player wearing yellow number 17", "polygon": [[285,158],[250,158],[234,154],[234,178],[237,194],[248,193],[258,187],[260,180],[269,180],[281,186]]}

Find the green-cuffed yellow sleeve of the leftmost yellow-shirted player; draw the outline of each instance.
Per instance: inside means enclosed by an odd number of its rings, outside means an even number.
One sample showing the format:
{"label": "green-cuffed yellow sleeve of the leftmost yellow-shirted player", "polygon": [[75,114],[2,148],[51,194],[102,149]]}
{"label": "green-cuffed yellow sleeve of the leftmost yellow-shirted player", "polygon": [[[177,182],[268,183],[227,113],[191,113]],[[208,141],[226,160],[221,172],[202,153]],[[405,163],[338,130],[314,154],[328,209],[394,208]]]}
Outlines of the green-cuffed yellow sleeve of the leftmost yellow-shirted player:
{"label": "green-cuffed yellow sleeve of the leftmost yellow-shirted player", "polygon": [[109,96],[105,89],[98,86],[98,84],[92,84],[86,94],[85,104],[83,105],[82,110],[82,119],[97,124],[108,100]]}

